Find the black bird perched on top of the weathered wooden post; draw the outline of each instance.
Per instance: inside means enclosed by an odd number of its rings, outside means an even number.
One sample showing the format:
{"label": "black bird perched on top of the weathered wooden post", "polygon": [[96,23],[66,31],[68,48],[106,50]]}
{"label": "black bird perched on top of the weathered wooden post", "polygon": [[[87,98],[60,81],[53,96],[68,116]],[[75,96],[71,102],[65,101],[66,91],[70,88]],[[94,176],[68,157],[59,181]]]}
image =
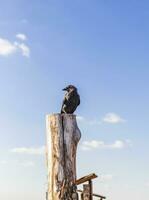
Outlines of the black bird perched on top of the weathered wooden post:
{"label": "black bird perched on top of the weathered wooden post", "polygon": [[68,85],[63,90],[66,91],[66,94],[62,104],[61,114],[72,114],[80,104],[80,96],[74,85]]}

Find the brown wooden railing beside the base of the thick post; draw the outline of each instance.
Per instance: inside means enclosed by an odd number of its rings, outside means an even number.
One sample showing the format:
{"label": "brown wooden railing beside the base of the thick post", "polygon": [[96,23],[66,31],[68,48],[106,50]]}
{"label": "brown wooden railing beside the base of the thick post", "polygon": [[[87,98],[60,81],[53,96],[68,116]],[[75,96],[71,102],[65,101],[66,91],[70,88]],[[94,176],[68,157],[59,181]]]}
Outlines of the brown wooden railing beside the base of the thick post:
{"label": "brown wooden railing beside the base of the thick post", "polygon": [[105,196],[95,194],[93,193],[93,179],[97,178],[98,176],[96,174],[89,174],[87,176],[84,176],[78,180],[76,180],[75,184],[80,185],[85,182],[88,182],[88,184],[83,185],[83,190],[77,190],[77,192],[81,193],[81,200],[93,200],[93,197],[99,198],[99,200],[106,199]]}

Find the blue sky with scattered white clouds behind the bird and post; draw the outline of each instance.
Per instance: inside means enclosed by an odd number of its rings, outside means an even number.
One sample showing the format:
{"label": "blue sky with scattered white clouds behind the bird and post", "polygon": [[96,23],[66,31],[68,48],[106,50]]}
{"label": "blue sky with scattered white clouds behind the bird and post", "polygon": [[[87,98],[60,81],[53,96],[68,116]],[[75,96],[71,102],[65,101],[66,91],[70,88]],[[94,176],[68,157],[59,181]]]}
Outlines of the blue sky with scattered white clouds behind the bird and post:
{"label": "blue sky with scattered white clouds behind the bird and post", "polygon": [[109,200],[149,199],[149,3],[0,1],[0,199],[42,200],[45,116],[78,87],[78,178]]}

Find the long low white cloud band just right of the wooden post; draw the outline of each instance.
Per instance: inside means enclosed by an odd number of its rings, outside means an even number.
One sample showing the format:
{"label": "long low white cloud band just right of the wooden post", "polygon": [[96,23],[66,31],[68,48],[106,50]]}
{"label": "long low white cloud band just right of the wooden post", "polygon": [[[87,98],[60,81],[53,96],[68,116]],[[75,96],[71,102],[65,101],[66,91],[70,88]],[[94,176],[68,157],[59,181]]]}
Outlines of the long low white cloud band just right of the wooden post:
{"label": "long low white cloud band just right of the wooden post", "polygon": [[93,150],[93,149],[123,149],[130,144],[127,141],[116,140],[114,143],[106,144],[104,141],[91,140],[82,142],[82,150]]}

